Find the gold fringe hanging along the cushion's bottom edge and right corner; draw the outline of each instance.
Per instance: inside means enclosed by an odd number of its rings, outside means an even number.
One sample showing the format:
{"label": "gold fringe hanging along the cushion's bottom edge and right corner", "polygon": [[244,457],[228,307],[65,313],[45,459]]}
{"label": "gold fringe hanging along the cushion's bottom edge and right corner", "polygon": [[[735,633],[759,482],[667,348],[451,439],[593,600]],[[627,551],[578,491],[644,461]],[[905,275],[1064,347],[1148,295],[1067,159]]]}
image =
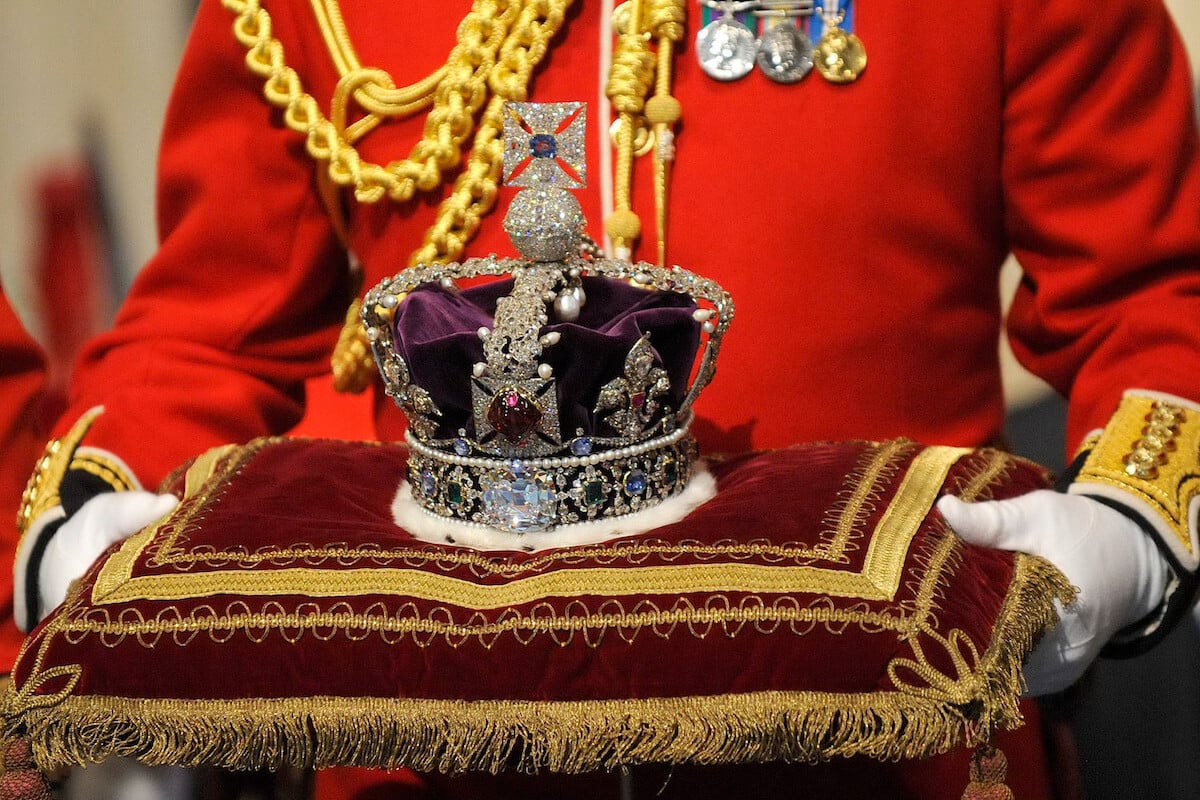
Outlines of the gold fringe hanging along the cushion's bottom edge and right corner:
{"label": "gold fringe hanging along the cushion's bottom edge and right corner", "polygon": [[34,706],[10,687],[4,709],[8,734],[28,735],[43,769],[113,756],[247,770],[361,765],[445,772],[922,758],[1020,724],[1021,660],[1055,620],[1054,600],[1073,596],[1049,563],[1019,557],[992,642],[967,675],[977,696],[956,703],[901,688],[580,702],[66,697]]}

